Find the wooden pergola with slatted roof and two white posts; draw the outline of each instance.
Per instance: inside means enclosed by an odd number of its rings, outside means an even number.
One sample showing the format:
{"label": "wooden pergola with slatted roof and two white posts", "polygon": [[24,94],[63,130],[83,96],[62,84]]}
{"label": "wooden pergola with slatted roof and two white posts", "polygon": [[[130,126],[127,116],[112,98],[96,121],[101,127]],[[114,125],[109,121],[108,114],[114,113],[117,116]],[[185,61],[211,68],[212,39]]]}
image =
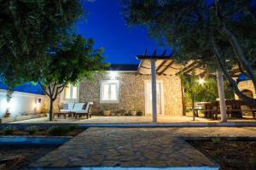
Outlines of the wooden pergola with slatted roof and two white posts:
{"label": "wooden pergola with slatted roof and two white posts", "polygon": [[[143,55],[137,55],[137,59],[140,60],[137,72],[144,75],[151,75],[152,85],[152,119],[153,122],[157,122],[156,111],[156,76],[161,75],[179,75],[181,73],[191,74],[195,72],[195,76],[203,77],[207,69],[200,60],[189,60],[185,64],[178,64],[176,59],[172,58],[172,54],[166,55],[166,50],[160,54],[156,54],[156,50],[152,55],[147,55],[147,51]],[[218,96],[220,104],[220,112],[222,121],[226,121],[225,100],[224,100],[224,80],[223,74],[220,71],[216,72],[218,80]]]}

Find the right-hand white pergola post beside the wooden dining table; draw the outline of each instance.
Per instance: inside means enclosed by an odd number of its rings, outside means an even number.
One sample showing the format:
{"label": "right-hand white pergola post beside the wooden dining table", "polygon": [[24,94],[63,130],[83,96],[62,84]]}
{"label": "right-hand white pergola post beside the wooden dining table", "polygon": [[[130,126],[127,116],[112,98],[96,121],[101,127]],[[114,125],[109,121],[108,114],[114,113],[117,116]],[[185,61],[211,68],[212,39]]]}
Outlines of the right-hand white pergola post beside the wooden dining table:
{"label": "right-hand white pergola post beside the wooden dining table", "polygon": [[227,122],[223,74],[221,71],[217,71],[216,75],[218,80],[218,99],[219,99],[221,122]]}

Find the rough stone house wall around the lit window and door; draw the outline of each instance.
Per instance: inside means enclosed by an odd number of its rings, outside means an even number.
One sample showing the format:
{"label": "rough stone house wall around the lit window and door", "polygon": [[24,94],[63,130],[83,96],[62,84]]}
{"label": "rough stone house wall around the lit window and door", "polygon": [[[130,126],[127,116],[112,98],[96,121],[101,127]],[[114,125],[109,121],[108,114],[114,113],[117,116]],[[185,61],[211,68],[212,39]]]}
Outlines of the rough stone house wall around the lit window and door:
{"label": "rough stone house wall around the lit window and door", "polygon": [[[141,75],[136,72],[119,72],[116,79],[119,80],[119,103],[100,103],[100,82],[109,80],[108,72],[96,74],[94,82],[84,80],[79,83],[79,102],[92,101],[94,103],[92,112],[95,115],[100,114],[103,109],[111,111],[131,111],[135,109],[144,113],[144,81],[150,80],[150,75]],[[165,115],[182,116],[183,97],[180,78],[177,76],[157,76],[157,80],[163,82]]]}

